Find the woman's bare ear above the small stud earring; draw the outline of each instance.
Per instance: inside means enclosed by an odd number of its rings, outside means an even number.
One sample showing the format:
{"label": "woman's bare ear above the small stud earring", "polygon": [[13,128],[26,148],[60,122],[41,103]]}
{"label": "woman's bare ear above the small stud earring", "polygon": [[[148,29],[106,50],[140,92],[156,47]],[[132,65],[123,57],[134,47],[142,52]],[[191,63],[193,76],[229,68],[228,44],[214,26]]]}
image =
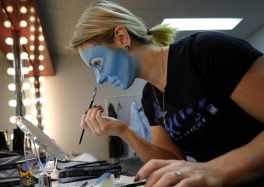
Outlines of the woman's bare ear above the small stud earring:
{"label": "woman's bare ear above the small stud earring", "polygon": [[118,46],[118,48],[127,50],[130,49],[131,39],[130,34],[128,34],[127,29],[123,26],[115,27],[115,36],[114,36],[114,44]]}

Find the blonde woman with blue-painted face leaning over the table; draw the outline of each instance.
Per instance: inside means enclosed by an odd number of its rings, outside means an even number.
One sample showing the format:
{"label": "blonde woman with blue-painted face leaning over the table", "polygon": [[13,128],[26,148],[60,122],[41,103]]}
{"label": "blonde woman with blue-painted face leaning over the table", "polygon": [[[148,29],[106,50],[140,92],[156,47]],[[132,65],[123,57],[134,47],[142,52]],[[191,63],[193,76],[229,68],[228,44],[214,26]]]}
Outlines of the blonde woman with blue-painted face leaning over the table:
{"label": "blonde woman with blue-painted face leaning over the table", "polygon": [[[135,181],[146,186],[264,185],[264,60],[246,41],[196,32],[175,42],[176,30],[144,22],[109,1],[89,6],[70,46],[98,84],[128,89],[146,80],[142,95],[153,143],[101,106],[82,116],[95,136],[119,136],[147,162]],[[191,155],[198,162],[187,162]]]}

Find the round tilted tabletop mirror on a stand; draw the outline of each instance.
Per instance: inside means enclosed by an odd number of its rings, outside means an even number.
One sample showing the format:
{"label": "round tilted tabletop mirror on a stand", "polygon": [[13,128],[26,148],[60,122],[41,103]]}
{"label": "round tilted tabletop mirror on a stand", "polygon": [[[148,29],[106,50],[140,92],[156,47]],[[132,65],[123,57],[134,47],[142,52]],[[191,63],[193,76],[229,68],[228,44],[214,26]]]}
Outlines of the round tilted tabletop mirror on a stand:
{"label": "round tilted tabletop mirror on a stand", "polygon": [[51,186],[57,160],[65,161],[66,154],[54,140],[24,117],[17,116],[16,124],[25,134],[24,154],[30,173],[39,179],[39,186]]}

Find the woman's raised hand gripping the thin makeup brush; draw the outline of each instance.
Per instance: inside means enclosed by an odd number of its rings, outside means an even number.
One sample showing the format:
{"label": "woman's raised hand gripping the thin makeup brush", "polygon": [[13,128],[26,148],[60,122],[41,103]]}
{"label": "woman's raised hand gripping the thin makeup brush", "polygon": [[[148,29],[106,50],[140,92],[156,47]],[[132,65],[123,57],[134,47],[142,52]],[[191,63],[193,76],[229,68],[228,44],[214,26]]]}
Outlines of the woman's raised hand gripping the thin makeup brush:
{"label": "woman's raised hand gripping the thin makeup brush", "polygon": [[113,117],[102,116],[102,112],[101,106],[89,109],[87,114],[82,115],[80,126],[95,136],[120,136],[127,124]]}

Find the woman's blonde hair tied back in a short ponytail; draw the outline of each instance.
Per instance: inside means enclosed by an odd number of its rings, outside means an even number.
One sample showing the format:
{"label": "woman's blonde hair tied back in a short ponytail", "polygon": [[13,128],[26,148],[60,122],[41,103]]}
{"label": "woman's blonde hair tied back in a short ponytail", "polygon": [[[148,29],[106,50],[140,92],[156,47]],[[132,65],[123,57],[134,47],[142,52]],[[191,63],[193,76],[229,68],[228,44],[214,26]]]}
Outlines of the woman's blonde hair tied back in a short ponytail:
{"label": "woman's blonde hair tied back in a short ponytail", "polygon": [[77,49],[86,41],[111,43],[118,25],[127,29],[134,44],[168,46],[175,41],[177,34],[175,28],[164,24],[147,30],[143,20],[126,8],[110,1],[95,1],[77,22],[70,48]]}

